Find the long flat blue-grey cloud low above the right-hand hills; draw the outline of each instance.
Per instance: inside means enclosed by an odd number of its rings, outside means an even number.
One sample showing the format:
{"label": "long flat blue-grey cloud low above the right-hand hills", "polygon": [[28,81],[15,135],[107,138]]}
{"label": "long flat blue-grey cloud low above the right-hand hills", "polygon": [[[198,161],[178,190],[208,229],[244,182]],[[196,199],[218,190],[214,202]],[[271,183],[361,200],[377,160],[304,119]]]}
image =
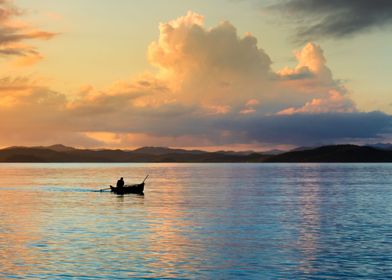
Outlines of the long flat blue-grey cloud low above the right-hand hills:
{"label": "long flat blue-grey cloud low above the right-hand hills", "polygon": [[379,138],[391,132],[392,117],[382,112],[263,116],[222,122],[253,141],[312,145]]}

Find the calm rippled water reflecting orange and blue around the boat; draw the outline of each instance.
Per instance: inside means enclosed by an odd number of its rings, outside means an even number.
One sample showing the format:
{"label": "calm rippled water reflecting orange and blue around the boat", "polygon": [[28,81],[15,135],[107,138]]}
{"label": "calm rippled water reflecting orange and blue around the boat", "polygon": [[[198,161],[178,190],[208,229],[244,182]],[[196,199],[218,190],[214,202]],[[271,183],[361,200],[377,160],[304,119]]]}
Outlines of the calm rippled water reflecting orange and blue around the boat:
{"label": "calm rippled water reflecting orange and blue around the boat", "polygon": [[[150,174],[145,196],[94,192]],[[0,278],[392,277],[392,164],[0,164]]]}

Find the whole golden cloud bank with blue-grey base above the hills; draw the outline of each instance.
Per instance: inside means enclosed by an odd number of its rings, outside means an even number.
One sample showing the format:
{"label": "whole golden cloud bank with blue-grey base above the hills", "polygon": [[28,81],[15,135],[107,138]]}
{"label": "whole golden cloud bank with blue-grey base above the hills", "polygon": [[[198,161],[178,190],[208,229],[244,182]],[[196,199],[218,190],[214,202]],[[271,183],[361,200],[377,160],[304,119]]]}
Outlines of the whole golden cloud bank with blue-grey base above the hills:
{"label": "whole golden cloud bank with blue-grey base above the hills", "polygon": [[1,79],[7,138],[0,145],[261,147],[390,133],[391,117],[358,111],[314,43],[295,52],[295,67],[273,71],[257,39],[240,36],[230,22],[207,28],[189,12],[159,30],[147,54],[157,72],[106,89],[85,86],[70,95],[31,79]]}

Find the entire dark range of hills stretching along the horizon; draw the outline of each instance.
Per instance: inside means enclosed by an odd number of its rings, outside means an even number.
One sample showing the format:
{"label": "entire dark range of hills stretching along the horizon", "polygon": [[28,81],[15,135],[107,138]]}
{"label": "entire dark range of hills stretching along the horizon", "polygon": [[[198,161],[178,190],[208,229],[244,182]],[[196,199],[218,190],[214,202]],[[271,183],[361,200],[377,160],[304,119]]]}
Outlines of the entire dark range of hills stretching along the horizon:
{"label": "entire dark range of hills stretching along the horizon", "polygon": [[255,152],[205,152],[143,147],[134,151],[48,147],[9,147],[0,162],[392,162],[392,150],[356,145],[333,145],[277,155]]}

